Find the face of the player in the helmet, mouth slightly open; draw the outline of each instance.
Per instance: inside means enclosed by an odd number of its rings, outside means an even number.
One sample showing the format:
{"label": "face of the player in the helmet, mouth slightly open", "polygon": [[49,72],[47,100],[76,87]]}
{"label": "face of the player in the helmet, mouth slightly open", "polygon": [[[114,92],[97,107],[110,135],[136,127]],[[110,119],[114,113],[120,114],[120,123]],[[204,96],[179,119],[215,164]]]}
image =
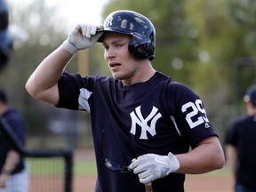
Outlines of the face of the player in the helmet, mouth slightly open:
{"label": "face of the player in the helmet, mouth slightly open", "polygon": [[112,76],[132,84],[141,68],[140,61],[132,57],[128,50],[131,36],[108,32],[104,35],[104,57]]}

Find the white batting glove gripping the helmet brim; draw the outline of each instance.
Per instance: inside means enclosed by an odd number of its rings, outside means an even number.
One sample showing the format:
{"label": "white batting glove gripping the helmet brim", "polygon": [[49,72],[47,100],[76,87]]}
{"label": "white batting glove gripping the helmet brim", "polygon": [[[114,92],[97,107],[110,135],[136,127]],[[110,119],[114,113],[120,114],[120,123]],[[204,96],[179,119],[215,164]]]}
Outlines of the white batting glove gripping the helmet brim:
{"label": "white batting glove gripping the helmet brim", "polygon": [[97,33],[99,29],[103,29],[103,26],[78,24],[76,28],[68,34],[68,39],[63,42],[64,49],[75,54],[78,50],[91,47],[103,34],[103,32]]}

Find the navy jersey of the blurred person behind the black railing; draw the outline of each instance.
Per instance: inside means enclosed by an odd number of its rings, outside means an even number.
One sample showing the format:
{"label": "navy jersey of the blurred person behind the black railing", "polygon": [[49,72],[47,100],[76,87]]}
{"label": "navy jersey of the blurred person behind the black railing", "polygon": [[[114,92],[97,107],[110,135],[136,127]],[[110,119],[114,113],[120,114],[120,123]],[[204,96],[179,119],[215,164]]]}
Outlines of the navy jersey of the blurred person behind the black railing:
{"label": "navy jersey of the blurred person behind the black railing", "polygon": [[[8,109],[2,116],[5,121],[10,125],[12,132],[16,135],[16,138],[20,140],[21,144],[25,144],[25,125],[20,114],[13,108]],[[12,150],[11,144],[5,140],[5,138],[0,134],[0,170],[5,163],[7,153]],[[13,173],[21,172],[24,169],[23,157],[20,157],[20,162],[16,165]]]}

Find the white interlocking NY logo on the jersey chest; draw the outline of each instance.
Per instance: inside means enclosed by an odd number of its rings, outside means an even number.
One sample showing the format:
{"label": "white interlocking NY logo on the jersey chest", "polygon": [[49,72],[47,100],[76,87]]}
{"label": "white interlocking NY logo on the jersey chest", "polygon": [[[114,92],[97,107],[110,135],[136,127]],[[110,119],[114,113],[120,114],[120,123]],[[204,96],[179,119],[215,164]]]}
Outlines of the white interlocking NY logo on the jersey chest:
{"label": "white interlocking NY logo on the jersey chest", "polygon": [[[150,114],[144,119],[140,111],[140,106],[135,108],[135,111],[130,113],[132,118],[132,127],[130,132],[135,135],[136,124],[138,124],[141,127],[141,140],[148,140],[147,132],[149,132],[152,136],[156,135],[156,121],[162,116],[160,112],[157,112],[158,108],[153,106]],[[148,126],[149,122],[150,126]]]}

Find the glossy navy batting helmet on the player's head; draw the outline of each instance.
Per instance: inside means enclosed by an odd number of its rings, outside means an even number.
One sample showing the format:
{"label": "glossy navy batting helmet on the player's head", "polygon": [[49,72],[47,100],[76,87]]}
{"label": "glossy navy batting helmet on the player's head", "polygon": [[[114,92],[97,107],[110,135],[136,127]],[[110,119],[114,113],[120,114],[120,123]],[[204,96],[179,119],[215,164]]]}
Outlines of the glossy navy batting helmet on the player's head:
{"label": "glossy navy batting helmet on the player's head", "polygon": [[[131,35],[128,44],[131,55],[138,60],[153,60],[155,57],[156,30],[147,17],[138,12],[121,10],[111,12],[103,24],[103,32]],[[104,33],[98,42],[103,42]],[[140,49],[139,49],[140,47]]]}

